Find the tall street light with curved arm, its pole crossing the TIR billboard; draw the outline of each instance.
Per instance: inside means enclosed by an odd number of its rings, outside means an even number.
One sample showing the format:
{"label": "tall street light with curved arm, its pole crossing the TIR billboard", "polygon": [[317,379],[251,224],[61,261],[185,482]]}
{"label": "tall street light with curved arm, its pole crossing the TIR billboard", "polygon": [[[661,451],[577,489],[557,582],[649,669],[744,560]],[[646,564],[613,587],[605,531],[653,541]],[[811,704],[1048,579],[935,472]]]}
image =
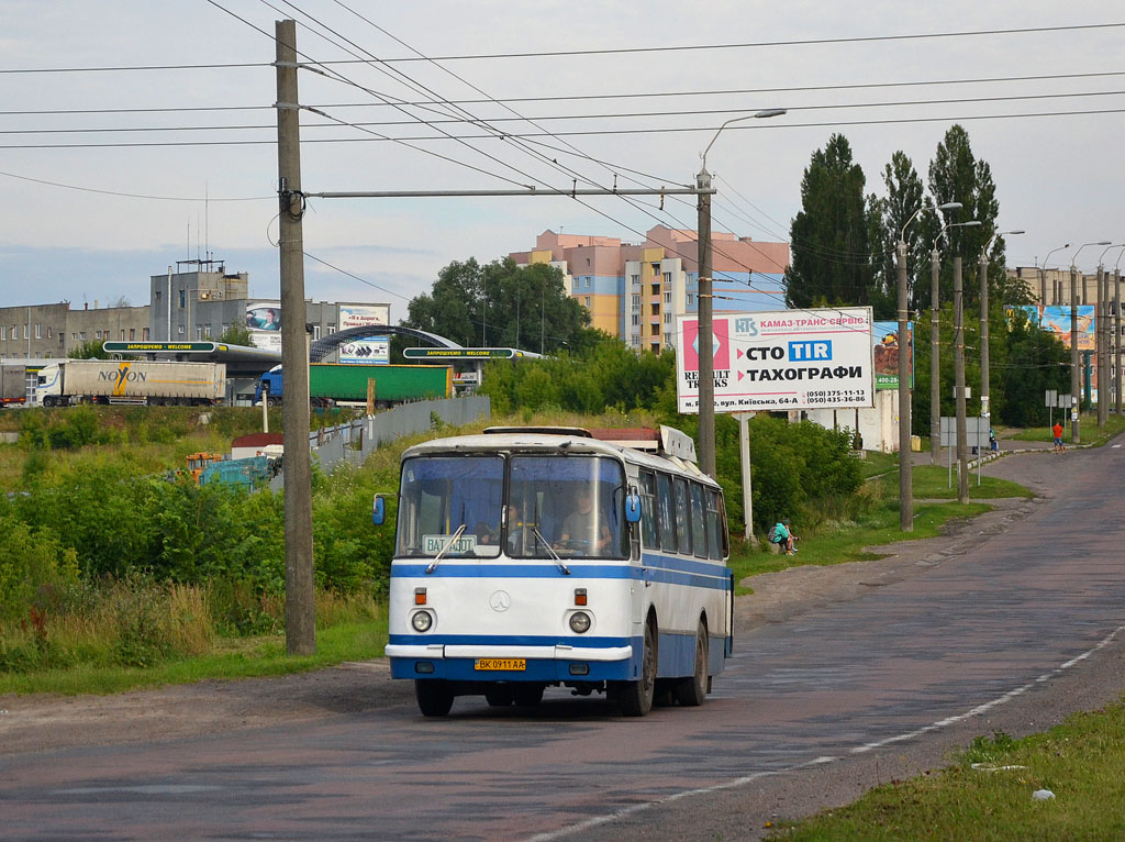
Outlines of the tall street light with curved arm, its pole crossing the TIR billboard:
{"label": "tall street light with curved arm, its pole crossing the TIR billboard", "polygon": [[699,195],[699,420],[700,420],[700,467],[714,478],[714,343],[712,341],[711,307],[711,173],[706,171],[706,153],[711,151],[719,134],[731,123],[747,119],[764,119],[785,114],[784,108],[767,108],[741,117],[731,117],[716,129],[714,137],[703,150],[703,165],[695,177]]}

